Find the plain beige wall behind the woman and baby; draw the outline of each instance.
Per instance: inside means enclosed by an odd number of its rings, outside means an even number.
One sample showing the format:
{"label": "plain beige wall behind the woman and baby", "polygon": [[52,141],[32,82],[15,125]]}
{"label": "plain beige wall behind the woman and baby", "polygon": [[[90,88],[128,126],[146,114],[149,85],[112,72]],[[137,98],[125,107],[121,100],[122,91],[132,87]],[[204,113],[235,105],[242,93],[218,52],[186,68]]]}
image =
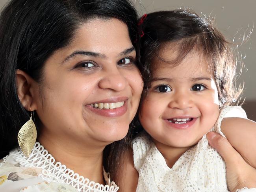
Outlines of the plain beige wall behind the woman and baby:
{"label": "plain beige wall behind the woman and baby", "polygon": [[[247,36],[256,25],[255,0],[132,0],[140,15],[154,10],[171,10],[179,7],[190,7],[197,13],[207,17],[215,17],[217,26],[229,39],[241,42],[243,35]],[[0,7],[7,0],[0,0]],[[249,118],[256,120],[256,29],[252,31],[247,43],[239,47],[243,56],[245,68],[239,78],[245,82],[246,97],[243,107]]]}

